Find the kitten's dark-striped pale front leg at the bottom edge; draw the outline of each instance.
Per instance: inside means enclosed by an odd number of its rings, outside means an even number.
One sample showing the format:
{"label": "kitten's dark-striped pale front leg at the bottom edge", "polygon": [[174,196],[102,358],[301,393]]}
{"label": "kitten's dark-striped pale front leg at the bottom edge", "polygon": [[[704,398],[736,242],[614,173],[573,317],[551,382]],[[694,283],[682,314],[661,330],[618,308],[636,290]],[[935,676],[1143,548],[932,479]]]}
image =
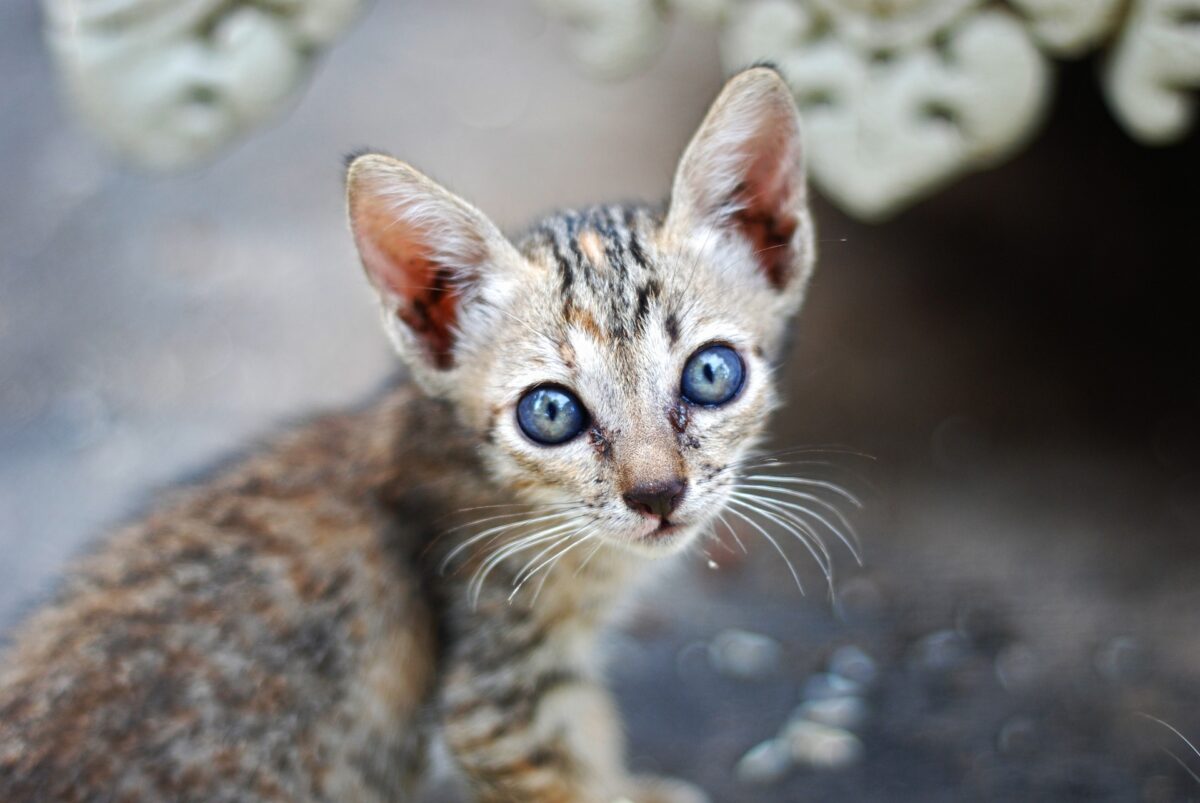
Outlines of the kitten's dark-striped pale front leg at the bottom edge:
{"label": "kitten's dark-striped pale front leg at the bottom edge", "polygon": [[607,690],[547,661],[552,651],[542,643],[497,669],[461,655],[445,677],[445,741],[480,801],[707,801],[682,781],[631,778]]}

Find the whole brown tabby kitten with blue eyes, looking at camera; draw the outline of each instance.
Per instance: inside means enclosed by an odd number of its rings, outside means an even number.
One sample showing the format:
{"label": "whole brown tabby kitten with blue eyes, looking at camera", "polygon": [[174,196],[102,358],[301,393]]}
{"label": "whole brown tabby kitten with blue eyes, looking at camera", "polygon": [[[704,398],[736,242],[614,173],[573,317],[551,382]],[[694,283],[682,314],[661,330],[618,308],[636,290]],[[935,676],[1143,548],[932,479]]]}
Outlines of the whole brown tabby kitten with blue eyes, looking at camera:
{"label": "whole brown tabby kitten with blue eyes, looking at camera", "polygon": [[480,801],[704,799],[626,773],[595,642],[775,405],[814,260],[787,86],[730,80],[665,214],[514,245],[386,156],[347,186],[415,382],[83,561],[0,665],[0,799],[406,799],[432,733]]}

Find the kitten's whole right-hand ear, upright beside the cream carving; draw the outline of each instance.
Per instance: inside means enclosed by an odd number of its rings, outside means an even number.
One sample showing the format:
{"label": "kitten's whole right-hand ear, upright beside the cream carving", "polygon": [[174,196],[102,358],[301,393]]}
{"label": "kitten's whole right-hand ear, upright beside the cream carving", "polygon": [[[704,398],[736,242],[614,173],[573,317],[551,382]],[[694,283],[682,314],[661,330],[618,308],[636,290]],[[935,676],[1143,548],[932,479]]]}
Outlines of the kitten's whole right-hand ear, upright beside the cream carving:
{"label": "kitten's whole right-hand ear, upright beside the cream carving", "polygon": [[768,284],[799,296],[815,242],[800,121],[778,72],[751,67],[725,84],[679,162],[667,227],[742,238]]}

